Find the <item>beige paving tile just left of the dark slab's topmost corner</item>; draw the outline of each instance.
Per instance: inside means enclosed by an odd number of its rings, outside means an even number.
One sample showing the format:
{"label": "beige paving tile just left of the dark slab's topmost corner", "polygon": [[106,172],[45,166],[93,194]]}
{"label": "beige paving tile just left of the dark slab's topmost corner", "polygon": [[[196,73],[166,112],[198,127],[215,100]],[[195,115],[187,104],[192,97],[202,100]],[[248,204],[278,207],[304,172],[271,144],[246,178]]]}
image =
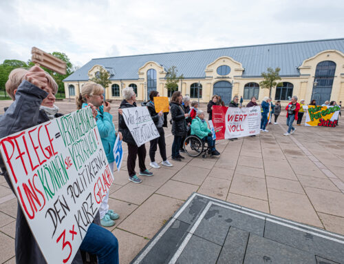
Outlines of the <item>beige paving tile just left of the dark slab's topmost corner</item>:
{"label": "beige paving tile just left of the dark slab's topmost corner", "polygon": [[155,193],[180,200],[186,200],[193,192],[196,192],[197,189],[197,185],[169,180]]}

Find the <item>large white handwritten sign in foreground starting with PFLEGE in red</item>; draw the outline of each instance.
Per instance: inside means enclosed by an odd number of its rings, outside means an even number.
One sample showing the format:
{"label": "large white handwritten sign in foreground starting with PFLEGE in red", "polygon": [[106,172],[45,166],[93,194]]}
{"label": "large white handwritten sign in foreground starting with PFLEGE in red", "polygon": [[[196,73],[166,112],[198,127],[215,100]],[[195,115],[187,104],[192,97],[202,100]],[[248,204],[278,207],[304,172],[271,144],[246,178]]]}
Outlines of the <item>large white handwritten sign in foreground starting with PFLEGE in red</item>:
{"label": "large white handwritten sign in foreground starting with PFLEGE in red", "polygon": [[92,111],[6,136],[0,151],[47,263],[71,263],[114,181]]}

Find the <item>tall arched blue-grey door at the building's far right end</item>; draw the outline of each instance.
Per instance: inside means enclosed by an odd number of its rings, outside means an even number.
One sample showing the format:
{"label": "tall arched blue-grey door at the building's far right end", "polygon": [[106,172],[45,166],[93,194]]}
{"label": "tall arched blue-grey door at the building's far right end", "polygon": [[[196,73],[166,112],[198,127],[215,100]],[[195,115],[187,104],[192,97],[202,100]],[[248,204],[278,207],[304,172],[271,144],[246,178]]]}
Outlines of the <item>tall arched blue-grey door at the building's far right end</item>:
{"label": "tall arched blue-grey door at the building's far right end", "polygon": [[321,61],[316,65],[311,100],[315,99],[317,105],[330,101],[334,72],[336,63],[333,61]]}

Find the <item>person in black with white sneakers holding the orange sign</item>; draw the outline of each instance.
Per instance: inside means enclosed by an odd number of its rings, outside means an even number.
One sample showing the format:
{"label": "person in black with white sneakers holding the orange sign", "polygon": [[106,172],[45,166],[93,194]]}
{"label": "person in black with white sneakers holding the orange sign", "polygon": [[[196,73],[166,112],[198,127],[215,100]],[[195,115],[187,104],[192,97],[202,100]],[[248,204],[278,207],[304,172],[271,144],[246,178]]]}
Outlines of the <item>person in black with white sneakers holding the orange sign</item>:
{"label": "person in black with white sneakers holding the orange sign", "polygon": [[149,114],[151,114],[151,119],[153,119],[153,122],[160,134],[160,137],[158,139],[153,139],[150,141],[151,145],[149,147],[149,157],[151,158],[151,165],[155,169],[158,169],[160,165],[155,162],[155,152],[157,150],[157,145],[159,145],[160,155],[162,157],[162,165],[171,167],[172,164],[167,160],[166,158],[166,143],[165,143],[165,132],[164,128],[162,126],[164,125],[164,113],[162,111],[155,112],[155,105],[154,105],[154,97],[159,97],[159,92],[157,91],[151,91],[149,94],[149,101],[146,104]]}

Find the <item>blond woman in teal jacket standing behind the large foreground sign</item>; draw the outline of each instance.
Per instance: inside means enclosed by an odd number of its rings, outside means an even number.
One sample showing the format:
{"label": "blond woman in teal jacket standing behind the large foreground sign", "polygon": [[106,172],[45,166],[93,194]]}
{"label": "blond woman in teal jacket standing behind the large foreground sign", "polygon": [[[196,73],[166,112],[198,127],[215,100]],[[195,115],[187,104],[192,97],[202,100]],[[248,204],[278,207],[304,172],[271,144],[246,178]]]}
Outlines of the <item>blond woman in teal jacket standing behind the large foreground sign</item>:
{"label": "blond woman in teal jacket standing behind the large foreground sign", "polygon": [[[114,172],[114,145],[116,142],[116,130],[115,125],[112,122],[112,116],[109,113],[111,105],[109,102],[105,102],[103,97],[104,88],[97,83],[87,83],[83,85],[81,93],[76,101],[78,109],[85,108],[87,104],[92,103],[96,107],[98,112],[96,116],[96,123],[100,134],[100,139],[103,143],[105,154],[107,155],[107,161],[109,162],[110,170]],[[122,134],[118,132],[120,140],[122,140]],[[113,210],[109,210],[109,192],[104,197],[102,204],[99,208],[100,223],[105,227],[115,225],[116,219],[120,216]]]}

